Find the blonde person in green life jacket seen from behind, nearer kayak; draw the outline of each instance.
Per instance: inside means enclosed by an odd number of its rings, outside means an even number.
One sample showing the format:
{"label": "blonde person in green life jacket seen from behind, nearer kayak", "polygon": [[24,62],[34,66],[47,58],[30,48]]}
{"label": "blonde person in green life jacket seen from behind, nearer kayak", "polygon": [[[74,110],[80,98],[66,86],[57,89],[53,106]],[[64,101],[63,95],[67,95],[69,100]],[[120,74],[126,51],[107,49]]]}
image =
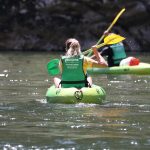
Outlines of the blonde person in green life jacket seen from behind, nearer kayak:
{"label": "blonde person in green life jacket seen from behind, nearer kayak", "polygon": [[76,39],[70,38],[66,41],[66,54],[61,57],[59,68],[61,70],[61,80],[57,77],[54,78],[56,87],[91,87],[91,77],[87,76],[87,68],[107,67],[107,62],[98,53],[96,46],[92,47],[96,59],[83,56],[80,49],[80,44]]}

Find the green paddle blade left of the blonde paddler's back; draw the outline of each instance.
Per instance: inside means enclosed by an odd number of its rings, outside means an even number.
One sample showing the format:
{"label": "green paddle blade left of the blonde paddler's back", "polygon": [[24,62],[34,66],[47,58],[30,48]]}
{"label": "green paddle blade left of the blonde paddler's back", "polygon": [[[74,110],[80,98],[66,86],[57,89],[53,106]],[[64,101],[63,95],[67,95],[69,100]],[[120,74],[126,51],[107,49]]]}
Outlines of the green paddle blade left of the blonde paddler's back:
{"label": "green paddle blade left of the blonde paddler's back", "polygon": [[55,76],[60,73],[59,59],[53,59],[47,64],[47,71],[50,75]]}

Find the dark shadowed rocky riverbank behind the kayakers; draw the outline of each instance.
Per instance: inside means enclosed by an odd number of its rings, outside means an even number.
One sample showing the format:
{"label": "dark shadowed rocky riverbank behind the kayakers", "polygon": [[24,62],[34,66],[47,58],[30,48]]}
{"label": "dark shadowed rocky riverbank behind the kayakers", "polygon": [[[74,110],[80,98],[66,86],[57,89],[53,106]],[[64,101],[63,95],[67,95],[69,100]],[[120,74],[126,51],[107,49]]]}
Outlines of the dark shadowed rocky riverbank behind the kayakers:
{"label": "dark shadowed rocky riverbank behind the kayakers", "polygon": [[3,0],[0,7],[1,50],[63,50],[69,37],[87,49],[125,7],[112,31],[126,37],[127,51],[150,51],[149,0]]}

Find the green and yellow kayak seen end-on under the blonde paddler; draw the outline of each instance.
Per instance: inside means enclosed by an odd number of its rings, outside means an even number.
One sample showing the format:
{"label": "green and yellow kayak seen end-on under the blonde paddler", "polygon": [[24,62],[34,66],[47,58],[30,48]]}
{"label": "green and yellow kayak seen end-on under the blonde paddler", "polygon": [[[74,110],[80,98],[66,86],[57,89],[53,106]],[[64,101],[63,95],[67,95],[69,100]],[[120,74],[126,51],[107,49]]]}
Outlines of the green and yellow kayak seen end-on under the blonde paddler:
{"label": "green and yellow kayak seen end-on under the blonde paddler", "polygon": [[46,93],[46,99],[49,103],[93,103],[101,104],[106,97],[106,93],[103,88],[97,85],[93,85],[91,88],[83,87],[77,88],[55,88],[52,85],[48,88]]}

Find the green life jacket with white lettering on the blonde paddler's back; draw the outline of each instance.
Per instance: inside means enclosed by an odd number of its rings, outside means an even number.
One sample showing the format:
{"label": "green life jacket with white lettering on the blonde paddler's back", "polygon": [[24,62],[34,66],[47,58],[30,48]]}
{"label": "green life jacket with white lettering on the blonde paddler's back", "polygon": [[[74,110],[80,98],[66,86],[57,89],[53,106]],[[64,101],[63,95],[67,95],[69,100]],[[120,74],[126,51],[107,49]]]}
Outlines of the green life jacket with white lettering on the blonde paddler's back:
{"label": "green life jacket with white lettering on the blonde paddler's back", "polygon": [[86,76],[83,70],[84,56],[62,57],[62,81],[63,88],[86,86]]}

